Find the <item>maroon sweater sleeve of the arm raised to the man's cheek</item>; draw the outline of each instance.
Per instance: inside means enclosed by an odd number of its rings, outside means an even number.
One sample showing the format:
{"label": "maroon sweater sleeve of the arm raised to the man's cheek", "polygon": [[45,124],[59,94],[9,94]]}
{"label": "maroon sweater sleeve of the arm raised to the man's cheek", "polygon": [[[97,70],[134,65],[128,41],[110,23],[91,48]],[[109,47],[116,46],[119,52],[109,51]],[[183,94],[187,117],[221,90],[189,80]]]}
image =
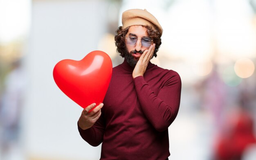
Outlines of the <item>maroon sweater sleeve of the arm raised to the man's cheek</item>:
{"label": "maroon sweater sleeve of the arm raised to the man's cheek", "polygon": [[159,132],[173,123],[180,107],[181,79],[175,72],[156,95],[143,76],[134,79],[141,109],[148,121]]}

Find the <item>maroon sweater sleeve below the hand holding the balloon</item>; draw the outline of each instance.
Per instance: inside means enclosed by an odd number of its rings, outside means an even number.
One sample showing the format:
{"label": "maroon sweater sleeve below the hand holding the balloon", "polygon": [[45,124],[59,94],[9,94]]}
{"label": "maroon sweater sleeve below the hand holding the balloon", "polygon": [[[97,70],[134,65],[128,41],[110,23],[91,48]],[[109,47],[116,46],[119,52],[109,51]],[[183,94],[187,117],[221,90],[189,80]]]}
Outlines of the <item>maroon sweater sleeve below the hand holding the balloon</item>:
{"label": "maroon sweater sleeve below the hand holding the balloon", "polygon": [[77,123],[78,131],[83,140],[88,142],[90,145],[96,147],[103,141],[103,135],[105,132],[105,123],[103,120],[103,115],[101,114],[97,122],[89,129],[81,129]]}

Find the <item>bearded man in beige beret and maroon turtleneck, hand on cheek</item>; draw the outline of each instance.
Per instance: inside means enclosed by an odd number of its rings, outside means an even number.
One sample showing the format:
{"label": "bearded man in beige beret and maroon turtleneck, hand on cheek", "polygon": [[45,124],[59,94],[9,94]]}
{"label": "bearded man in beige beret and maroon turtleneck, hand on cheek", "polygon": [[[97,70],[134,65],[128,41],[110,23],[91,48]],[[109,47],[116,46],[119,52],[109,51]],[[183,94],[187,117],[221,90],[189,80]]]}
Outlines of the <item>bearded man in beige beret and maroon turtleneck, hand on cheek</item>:
{"label": "bearded man in beige beret and maroon turtleneck, hand on cheek", "polygon": [[103,103],[86,107],[78,121],[81,137],[92,146],[102,142],[101,160],[166,160],[168,127],[180,106],[177,72],[150,63],[161,45],[162,27],[148,11],[122,15],[115,36],[124,62],[113,68]]}

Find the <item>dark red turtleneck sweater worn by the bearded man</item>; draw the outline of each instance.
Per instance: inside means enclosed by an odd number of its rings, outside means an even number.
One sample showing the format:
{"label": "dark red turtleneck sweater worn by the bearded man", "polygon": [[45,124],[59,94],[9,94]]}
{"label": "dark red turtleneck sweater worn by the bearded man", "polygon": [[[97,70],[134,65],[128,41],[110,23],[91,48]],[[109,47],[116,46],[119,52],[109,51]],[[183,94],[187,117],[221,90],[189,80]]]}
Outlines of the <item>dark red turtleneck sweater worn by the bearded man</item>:
{"label": "dark red turtleneck sweater worn by the bearded man", "polygon": [[113,68],[99,120],[79,133],[92,146],[102,142],[101,160],[166,160],[168,127],[180,106],[177,72],[149,63],[144,76],[132,79],[126,61]]}

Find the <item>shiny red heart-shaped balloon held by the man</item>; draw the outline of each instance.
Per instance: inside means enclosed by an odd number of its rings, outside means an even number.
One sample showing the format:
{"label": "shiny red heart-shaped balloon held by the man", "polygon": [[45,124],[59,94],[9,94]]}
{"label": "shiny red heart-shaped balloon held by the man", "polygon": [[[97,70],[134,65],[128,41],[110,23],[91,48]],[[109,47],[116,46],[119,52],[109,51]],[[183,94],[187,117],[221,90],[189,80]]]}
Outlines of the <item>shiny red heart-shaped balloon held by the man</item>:
{"label": "shiny red heart-shaped balloon held by the man", "polygon": [[100,50],[88,53],[80,61],[63,59],[53,70],[58,88],[83,108],[103,102],[111,76],[112,61]]}

